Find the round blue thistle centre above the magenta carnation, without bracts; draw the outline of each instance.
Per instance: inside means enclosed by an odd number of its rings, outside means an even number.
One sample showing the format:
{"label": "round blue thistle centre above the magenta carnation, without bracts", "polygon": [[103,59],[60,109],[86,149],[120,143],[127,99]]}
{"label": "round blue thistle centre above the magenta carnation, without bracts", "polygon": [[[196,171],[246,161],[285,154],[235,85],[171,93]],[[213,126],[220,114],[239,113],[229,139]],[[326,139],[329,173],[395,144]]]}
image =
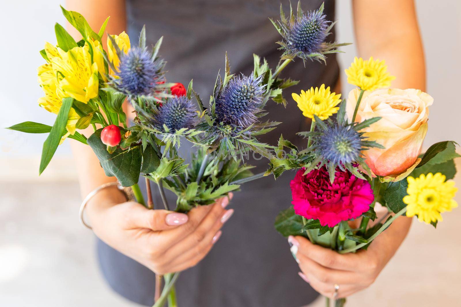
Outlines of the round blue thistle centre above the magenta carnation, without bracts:
{"label": "round blue thistle centre above the magenta carnation, without bracts", "polygon": [[326,126],[319,136],[320,155],[335,165],[356,162],[360,157],[361,135],[352,126]]}

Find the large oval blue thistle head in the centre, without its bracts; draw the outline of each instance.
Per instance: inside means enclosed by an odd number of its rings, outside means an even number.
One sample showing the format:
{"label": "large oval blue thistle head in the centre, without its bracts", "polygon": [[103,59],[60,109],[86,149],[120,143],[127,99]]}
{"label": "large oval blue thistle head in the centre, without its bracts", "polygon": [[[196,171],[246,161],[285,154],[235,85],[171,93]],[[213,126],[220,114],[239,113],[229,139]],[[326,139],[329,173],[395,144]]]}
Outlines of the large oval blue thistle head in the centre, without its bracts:
{"label": "large oval blue thistle head in the centre, without its bracts", "polygon": [[216,99],[217,121],[231,127],[248,127],[256,122],[264,94],[261,78],[242,76],[231,79]]}

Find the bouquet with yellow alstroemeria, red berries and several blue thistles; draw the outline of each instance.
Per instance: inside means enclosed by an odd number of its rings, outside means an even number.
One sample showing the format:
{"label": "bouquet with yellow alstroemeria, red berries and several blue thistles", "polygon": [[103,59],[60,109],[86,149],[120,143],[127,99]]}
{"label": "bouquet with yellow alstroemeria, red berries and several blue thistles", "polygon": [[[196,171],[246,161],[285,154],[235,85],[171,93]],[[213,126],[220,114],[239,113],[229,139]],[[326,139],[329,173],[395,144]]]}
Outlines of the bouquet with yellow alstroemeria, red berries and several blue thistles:
{"label": "bouquet with yellow alstroemeria, red berries and several blue thistles", "polygon": [[[89,145],[105,174],[115,176],[121,186],[130,187],[136,200],[149,209],[155,207],[149,180],[157,184],[165,209],[173,209],[165,197],[164,190],[168,189],[177,196],[174,210],[188,212],[195,206],[214,203],[244,182],[270,174],[252,174],[252,166],[243,159],[250,151],[267,159],[274,157],[271,151],[277,147],[257,139],[278,124],[262,121],[267,114],[264,106],[269,100],[286,104],[282,90],[298,83],[279,78],[279,73],[296,56],[303,61],[325,61],[325,54],[338,52],[336,48],[344,45],[325,42],[333,24],[325,20],[323,5],[305,14],[298,4],[297,21],[293,12],[290,19],[283,17],[279,24],[272,21],[285,38],[279,42],[285,49],[283,61],[275,70],[272,72],[265,59],[254,55],[254,71],[234,75],[226,54],[224,74],[218,73],[213,95],[205,106],[192,80],[187,87],[165,80],[165,61],[159,56],[162,38],[149,50],[145,28],[137,46],[132,46],[125,32],[108,35],[106,51],[102,37],[109,18],[95,32],[81,14],[61,9],[82,37],[74,40],[56,23],[57,45],[46,43],[40,51],[45,64],[38,69],[38,81],[45,96],[38,102],[55,113],[56,120],[53,126],[22,122],[9,129],[49,133],[43,144],[40,174],[66,138]],[[293,32],[293,27],[298,28]],[[315,31],[319,32],[318,41],[305,41],[304,37]],[[122,109],[124,101],[134,108],[130,125]],[[89,126],[93,133],[88,138],[77,131]],[[190,164],[184,163],[178,153],[184,139],[196,149]],[[138,186],[140,175],[145,177],[147,203]],[[170,306],[176,306],[174,283],[178,274],[165,274],[161,293],[160,283],[156,283],[154,306],[163,306],[167,297]]]}

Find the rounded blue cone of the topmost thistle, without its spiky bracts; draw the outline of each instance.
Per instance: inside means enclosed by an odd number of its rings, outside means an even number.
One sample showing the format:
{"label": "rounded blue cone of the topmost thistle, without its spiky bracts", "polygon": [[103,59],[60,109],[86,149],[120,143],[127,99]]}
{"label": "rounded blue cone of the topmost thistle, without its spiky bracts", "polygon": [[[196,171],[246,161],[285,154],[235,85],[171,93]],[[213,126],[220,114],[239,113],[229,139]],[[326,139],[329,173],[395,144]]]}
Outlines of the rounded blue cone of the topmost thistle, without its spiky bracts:
{"label": "rounded blue cone of the topmost thistle, without its spiky bracts", "polygon": [[294,53],[318,52],[327,36],[330,21],[319,11],[308,12],[286,34],[287,47]]}

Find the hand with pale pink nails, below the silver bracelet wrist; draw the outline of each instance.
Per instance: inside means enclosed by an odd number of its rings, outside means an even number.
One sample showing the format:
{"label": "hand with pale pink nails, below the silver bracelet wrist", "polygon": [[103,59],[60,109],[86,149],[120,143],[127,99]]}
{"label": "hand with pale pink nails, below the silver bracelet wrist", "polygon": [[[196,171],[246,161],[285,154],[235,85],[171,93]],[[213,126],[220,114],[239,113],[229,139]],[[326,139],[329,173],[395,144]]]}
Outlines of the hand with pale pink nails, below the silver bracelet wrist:
{"label": "hand with pale pink nails, below the silver bracelet wrist", "polygon": [[87,215],[102,241],[163,275],[195,266],[207,255],[234,212],[225,210],[231,198],[230,193],[188,214],[150,210],[136,202],[93,201]]}

